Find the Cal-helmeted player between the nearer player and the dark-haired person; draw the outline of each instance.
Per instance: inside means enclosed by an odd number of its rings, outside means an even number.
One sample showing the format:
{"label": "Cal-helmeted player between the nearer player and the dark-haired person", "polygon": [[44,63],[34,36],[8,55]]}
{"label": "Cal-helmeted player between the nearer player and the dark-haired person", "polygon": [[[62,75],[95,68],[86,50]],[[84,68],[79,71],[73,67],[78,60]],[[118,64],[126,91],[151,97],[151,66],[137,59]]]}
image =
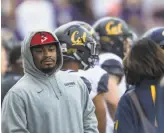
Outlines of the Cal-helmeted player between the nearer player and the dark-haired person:
{"label": "Cal-helmeted player between the nearer player and the dark-haired person", "polygon": [[111,77],[110,91],[104,94],[110,112],[107,116],[107,132],[111,133],[118,101],[126,90],[122,59],[131,48],[133,36],[128,25],[115,17],[102,18],[95,22],[93,28],[99,36],[101,47],[99,66]]}

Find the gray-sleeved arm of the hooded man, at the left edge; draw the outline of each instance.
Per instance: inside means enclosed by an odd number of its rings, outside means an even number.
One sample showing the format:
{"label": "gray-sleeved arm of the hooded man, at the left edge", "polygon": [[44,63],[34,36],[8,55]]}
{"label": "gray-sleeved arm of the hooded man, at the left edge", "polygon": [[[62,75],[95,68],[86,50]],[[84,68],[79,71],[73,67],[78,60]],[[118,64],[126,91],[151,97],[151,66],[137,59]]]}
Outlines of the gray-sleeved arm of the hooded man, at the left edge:
{"label": "gray-sleeved arm of the hooded man, at the left edge", "polygon": [[23,99],[9,92],[2,105],[2,133],[29,133]]}

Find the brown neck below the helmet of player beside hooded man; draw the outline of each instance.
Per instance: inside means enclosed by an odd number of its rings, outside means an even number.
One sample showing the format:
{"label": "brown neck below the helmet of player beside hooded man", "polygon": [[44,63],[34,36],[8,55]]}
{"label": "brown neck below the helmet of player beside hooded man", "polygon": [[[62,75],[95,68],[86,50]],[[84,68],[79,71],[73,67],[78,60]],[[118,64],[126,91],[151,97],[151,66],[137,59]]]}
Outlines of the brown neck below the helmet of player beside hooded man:
{"label": "brown neck below the helmet of player beside hooded man", "polygon": [[76,62],[64,63],[62,69],[71,69],[77,72],[79,70],[79,64]]}

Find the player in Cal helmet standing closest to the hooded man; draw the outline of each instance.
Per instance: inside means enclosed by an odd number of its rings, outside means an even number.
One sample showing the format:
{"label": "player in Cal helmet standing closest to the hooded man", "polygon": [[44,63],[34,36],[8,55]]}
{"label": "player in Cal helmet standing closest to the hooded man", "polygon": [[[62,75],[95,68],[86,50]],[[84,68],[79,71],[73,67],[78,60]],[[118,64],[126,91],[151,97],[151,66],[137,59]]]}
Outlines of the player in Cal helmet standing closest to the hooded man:
{"label": "player in Cal helmet standing closest to the hooded man", "polygon": [[[100,67],[93,68],[98,61],[98,43],[94,40],[93,34],[78,22],[60,26],[55,30],[55,34],[63,51],[63,70],[79,75],[88,88],[91,88],[90,96],[96,106],[98,128],[100,133],[104,133],[106,110],[102,94],[108,91],[109,77],[107,72]],[[103,86],[102,82],[106,82],[106,85]]]}

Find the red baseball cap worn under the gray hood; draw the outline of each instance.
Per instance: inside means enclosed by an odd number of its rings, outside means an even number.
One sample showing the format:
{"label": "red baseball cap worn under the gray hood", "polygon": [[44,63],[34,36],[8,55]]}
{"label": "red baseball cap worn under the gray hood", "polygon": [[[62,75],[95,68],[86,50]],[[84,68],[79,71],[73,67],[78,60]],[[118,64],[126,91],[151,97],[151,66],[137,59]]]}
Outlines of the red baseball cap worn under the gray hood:
{"label": "red baseball cap worn under the gray hood", "polygon": [[58,40],[49,32],[36,33],[30,43],[30,47],[58,42]]}

